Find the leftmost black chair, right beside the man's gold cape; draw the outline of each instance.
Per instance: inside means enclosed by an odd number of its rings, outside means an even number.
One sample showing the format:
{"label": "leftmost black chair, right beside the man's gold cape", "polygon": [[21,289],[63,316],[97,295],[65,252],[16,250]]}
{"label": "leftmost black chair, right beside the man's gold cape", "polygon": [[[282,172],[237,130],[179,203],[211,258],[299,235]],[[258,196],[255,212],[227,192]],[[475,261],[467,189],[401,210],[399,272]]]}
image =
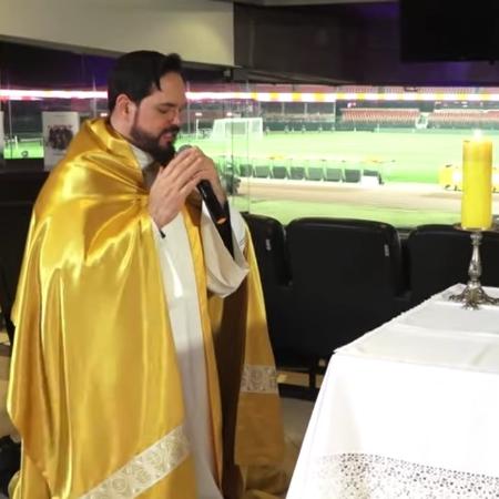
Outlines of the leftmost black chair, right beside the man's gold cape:
{"label": "leftmost black chair, right beside the man's gold cape", "polygon": [[[315,365],[302,354],[299,334],[293,314],[289,265],[285,245],[285,231],[281,222],[269,216],[243,213],[252,234],[271,336],[277,367],[307,373],[309,386],[305,395],[315,396]],[[283,387],[282,387],[283,388]],[[303,396],[299,389],[285,386],[287,395]],[[303,390],[302,390],[303,391]]]}

